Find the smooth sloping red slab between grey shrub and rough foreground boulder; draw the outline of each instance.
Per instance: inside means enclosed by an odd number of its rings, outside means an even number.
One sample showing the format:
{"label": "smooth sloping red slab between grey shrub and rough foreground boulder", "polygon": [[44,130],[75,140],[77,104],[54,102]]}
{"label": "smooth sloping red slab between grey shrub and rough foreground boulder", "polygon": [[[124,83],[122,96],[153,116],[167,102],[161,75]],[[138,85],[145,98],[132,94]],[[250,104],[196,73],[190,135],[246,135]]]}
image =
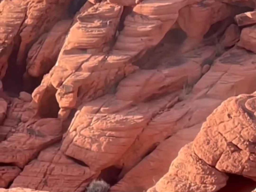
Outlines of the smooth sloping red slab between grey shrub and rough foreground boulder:
{"label": "smooth sloping red slab between grey shrub and rough foreground boulder", "polygon": [[181,147],[193,141],[200,130],[200,125],[184,129],[174,134],[172,137],[161,142],[154,152],[143,158],[131,171],[114,186],[110,188],[111,192],[140,192],[147,190],[168,172],[171,162],[178,155]]}

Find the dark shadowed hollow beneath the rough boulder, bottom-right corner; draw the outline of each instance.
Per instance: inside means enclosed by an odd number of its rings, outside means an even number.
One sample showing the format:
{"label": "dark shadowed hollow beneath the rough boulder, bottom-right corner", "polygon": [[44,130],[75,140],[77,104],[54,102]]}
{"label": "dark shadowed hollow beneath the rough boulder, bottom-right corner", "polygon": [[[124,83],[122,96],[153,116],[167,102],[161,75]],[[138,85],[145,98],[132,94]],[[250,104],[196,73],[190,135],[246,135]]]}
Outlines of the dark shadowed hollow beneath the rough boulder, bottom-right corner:
{"label": "dark shadowed hollow beneath the rough boulder, bottom-right corner", "polygon": [[241,175],[229,175],[227,185],[218,192],[251,192],[256,188],[256,182]]}

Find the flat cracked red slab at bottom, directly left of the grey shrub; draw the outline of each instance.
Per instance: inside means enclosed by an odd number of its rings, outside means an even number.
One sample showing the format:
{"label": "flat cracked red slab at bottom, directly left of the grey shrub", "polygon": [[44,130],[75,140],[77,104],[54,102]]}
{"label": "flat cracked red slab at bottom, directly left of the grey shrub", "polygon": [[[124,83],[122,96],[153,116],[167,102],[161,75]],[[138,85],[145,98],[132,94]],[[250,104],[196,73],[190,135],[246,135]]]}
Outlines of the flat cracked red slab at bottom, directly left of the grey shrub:
{"label": "flat cracked red slab at bottom, directly left of the grey shrub", "polygon": [[59,151],[59,144],[40,152],[10,186],[45,191],[84,191],[99,172],[79,165]]}

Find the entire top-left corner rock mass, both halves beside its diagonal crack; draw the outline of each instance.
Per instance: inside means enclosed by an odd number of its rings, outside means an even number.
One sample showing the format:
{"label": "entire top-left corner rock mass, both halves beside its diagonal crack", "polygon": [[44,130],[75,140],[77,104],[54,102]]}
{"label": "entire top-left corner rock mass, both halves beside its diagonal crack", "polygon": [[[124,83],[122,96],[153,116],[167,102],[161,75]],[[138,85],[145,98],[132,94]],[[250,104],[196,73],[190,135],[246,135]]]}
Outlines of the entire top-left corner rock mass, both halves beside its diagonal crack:
{"label": "entire top-left corner rock mass, both halves beside its diagonal crack", "polygon": [[5,75],[11,53],[16,50],[17,63],[24,65],[34,41],[65,15],[68,4],[69,1],[59,0],[1,1],[1,79]]}

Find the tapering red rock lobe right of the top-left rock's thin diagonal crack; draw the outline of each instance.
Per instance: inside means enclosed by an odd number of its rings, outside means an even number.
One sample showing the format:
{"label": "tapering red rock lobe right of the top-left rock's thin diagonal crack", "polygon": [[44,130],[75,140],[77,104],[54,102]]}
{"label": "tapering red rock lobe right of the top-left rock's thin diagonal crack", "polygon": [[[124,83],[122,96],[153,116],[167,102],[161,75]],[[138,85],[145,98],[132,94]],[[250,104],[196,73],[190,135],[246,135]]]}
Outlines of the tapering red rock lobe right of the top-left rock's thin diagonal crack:
{"label": "tapering red rock lobe right of the top-left rock's thin diagonal crack", "polygon": [[[22,1],[21,1],[22,2]],[[19,36],[21,42],[17,55],[17,64],[24,65],[26,55],[41,34],[50,30],[61,17],[66,15],[66,9],[69,5],[67,1],[42,1],[30,0],[25,2],[27,6],[26,19],[24,20]]]}

